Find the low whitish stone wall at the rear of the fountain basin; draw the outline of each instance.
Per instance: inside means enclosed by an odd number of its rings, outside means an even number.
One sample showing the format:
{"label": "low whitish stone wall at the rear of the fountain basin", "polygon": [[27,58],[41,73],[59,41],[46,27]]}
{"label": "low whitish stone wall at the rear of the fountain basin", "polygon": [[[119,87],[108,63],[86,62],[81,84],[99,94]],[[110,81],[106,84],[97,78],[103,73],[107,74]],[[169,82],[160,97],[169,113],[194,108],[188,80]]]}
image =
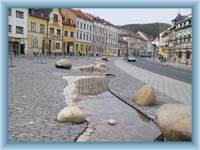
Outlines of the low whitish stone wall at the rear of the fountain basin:
{"label": "low whitish stone wall at the rear of the fountain basin", "polygon": [[67,105],[75,105],[81,95],[97,95],[107,90],[111,77],[107,76],[68,76],[64,88],[64,95]]}

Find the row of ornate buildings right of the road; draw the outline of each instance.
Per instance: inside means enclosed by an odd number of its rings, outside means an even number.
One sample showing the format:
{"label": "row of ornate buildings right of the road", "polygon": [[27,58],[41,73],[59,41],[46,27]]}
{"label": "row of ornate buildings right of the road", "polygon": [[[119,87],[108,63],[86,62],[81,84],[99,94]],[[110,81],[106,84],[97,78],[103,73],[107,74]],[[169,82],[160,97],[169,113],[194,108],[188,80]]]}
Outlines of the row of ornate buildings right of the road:
{"label": "row of ornate buildings right of the road", "polygon": [[171,21],[171,26],[156,39],[158,58],[175,64],[192,65],[192,15],[180,13]]}

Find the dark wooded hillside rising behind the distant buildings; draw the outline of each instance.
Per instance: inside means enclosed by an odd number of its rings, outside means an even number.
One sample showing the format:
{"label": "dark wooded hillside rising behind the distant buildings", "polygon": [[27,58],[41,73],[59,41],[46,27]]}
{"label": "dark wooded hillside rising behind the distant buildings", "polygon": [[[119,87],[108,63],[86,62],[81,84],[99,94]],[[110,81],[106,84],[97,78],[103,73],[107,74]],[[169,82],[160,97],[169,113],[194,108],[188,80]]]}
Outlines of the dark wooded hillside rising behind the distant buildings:
{"label": "dark wooded hillside rising behind the distant buildings", "polygon": [[170,25],[166,23],[148,23],[148,24],[127,24],[118,26],[133,32],[145,32],[150,38],[156,38],[160,32],[168,28]]}

